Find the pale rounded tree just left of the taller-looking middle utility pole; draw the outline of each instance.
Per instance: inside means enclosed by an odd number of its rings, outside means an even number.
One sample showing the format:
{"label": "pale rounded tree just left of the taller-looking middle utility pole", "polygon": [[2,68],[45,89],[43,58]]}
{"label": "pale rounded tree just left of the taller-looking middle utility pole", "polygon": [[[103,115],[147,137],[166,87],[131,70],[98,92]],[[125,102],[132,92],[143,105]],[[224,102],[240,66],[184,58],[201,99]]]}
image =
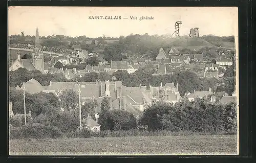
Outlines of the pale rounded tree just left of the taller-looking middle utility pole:
{"label": "pale rounded tree just left of the taller-looking middle utility pole", "polygon": [[59,106],[66,111],[75,110],[78,108],[78,95],[72,89],[63,90],[59,95]]}

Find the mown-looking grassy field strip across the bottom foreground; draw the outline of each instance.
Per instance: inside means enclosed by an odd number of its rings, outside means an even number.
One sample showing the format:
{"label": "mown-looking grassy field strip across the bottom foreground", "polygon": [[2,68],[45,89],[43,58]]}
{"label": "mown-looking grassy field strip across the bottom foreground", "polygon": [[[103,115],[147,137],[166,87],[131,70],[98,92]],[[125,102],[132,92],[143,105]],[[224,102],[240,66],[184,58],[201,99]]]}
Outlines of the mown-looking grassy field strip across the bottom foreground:
{"label": "mown-looking grassy field strip across the bottom foreground", "polygon": [[12,139],[10,155],[236,154],[235,135]]}

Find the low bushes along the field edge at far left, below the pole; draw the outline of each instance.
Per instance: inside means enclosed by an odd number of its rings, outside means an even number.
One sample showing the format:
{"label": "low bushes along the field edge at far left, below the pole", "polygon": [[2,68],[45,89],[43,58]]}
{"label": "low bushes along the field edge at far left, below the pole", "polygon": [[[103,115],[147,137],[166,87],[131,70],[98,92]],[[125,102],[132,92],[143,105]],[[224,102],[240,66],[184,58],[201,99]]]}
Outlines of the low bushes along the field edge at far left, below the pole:
{"label": "low bushes along the field edge at far left, below the pole", "polygon": [[26,126],[10,126],[10,138],[58,138],[63,133],[54,126],[31,123]]}

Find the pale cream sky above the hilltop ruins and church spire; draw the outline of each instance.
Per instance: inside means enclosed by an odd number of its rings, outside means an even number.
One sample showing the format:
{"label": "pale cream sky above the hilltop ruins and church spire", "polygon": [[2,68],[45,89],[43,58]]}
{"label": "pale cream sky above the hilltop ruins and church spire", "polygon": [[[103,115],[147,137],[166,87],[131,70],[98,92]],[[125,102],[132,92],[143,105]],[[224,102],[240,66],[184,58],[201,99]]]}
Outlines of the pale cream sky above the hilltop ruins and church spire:
{"label": "pale cream sky above the hilltop ruins and church spire", "polygon": [[[230,36],[238,33],[236,7],[15,7],[8,10],[9,35],[66,35],[119,37],[133,34],[173,34],[182,21],[181,35],[198,27],[199,35]],[[95,20],[89,16],[121,16],[120,20]],[[131,20],[154,17],[154,20]],[[129,19],[123,19],[128,17]]]}

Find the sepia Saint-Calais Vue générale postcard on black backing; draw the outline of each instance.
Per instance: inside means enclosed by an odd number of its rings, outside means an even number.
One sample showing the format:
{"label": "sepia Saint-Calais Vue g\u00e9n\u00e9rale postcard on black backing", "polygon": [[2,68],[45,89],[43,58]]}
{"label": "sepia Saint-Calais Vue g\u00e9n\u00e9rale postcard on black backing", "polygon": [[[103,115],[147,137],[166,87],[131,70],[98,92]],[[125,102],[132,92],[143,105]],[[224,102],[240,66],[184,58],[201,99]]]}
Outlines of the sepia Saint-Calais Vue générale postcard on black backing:
{"label": "sepia Saint-Calais Vue g\u00e9n\u00e9rale postcard on black backing", "polygon": [[238,155],[237,7],[8,8],[8,151]]}

